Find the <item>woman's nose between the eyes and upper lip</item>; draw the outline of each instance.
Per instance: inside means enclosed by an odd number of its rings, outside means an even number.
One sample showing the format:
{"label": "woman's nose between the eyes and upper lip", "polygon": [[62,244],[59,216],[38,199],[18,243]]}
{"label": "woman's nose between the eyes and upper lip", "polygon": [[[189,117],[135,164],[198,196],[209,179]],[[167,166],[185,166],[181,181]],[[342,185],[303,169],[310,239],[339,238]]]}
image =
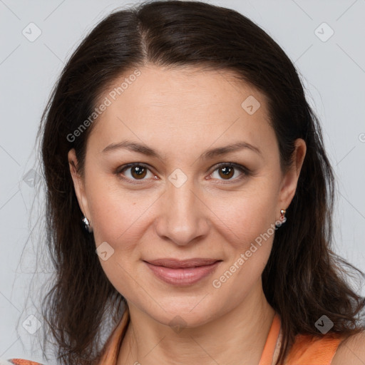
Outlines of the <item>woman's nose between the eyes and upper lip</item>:
{"label": "woman's nose between the eyes and upper lip", "polygon": [[192,179],[187,178],[181,186],[168,181],[155,220],[155,230],[163,240],[184,246],[207,236],[209,209],[199,195]]}

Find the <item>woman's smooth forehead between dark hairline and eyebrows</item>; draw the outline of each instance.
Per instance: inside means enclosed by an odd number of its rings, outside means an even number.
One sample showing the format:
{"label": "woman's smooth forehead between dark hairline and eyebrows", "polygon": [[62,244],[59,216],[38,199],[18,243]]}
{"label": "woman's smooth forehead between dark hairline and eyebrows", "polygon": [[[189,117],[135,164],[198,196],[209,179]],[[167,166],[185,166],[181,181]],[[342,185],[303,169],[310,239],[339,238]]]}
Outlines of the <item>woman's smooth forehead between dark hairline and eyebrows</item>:
{"label": "woman's smooth forehead between dark hairline and eyebrows", "polygon": [[98,103],[108,106],[91,133],[100,148],[127,136],[180,148],[273,136],[263,94],[230,71],[145,66],[138,73],[125,72],[101,95]]}

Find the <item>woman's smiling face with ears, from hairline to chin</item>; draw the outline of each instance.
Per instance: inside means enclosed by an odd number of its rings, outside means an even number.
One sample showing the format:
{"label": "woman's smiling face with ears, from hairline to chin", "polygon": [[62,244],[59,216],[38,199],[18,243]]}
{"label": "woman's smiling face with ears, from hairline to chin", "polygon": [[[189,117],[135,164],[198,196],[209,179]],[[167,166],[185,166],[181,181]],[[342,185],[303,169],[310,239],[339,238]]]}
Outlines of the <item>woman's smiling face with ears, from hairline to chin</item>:
{"label": "woman's smiling face with ears, from hairline to chin", "polygon": [[[145,66],[115,96],[123,75],[101,97],[110,105],[88,137],[83,177],[69,153],[103,270],[160,323],[179,315],[194,327],[262,293],[274,225],[297,186],[304,142],[282,173],[264,96],[230,76]],[[215,263],[147,263],[197,258]]]}

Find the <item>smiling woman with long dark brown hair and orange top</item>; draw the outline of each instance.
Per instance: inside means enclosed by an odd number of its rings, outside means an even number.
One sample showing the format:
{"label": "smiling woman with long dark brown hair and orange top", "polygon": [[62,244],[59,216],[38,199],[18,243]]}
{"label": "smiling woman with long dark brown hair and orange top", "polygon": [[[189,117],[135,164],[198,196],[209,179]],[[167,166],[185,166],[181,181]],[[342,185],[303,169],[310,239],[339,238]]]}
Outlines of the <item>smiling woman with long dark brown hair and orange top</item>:
{"label": "smiling woman with long dark brown hair and orange top", "polygon": [[252,21],[199,1],[110,14],[43,120],[60,364],[364,363],[321,128]]}

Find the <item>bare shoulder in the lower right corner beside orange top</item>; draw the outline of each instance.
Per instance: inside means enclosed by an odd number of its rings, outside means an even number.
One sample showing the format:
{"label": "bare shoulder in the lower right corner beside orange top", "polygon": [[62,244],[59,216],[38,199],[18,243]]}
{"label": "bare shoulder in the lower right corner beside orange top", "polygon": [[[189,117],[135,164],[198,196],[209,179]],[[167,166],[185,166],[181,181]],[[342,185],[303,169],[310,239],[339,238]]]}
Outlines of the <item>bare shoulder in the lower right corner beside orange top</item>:
{"label": "bare shoulder in the lower right corner beside orange top", "polygon": [[365,364],[365,332],[349,336],[339,344],[331,365],[364,365]]}

